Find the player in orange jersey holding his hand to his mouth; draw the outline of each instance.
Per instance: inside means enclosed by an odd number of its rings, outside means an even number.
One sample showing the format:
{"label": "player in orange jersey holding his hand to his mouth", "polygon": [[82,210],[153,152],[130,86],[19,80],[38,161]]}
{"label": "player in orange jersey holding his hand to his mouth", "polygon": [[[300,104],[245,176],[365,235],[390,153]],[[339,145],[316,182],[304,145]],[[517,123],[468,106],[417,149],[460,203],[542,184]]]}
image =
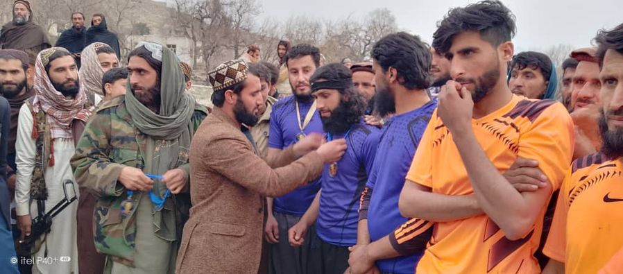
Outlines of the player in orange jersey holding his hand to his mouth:
{"label": "player in orange jersey holding his hand to his mouth", "polygon": [[[506,85],[515,21],[500,1],[452,8],[433,46],[450,80],[418,146],[400,195],[404,216],[436,222],[417,273],[539,273],[543,215],[572,156],[572,120],[551,100]],[[518,191],[502,173],[519,157],[545,174]],[[542,178],[543,180],[543,178]]]}

